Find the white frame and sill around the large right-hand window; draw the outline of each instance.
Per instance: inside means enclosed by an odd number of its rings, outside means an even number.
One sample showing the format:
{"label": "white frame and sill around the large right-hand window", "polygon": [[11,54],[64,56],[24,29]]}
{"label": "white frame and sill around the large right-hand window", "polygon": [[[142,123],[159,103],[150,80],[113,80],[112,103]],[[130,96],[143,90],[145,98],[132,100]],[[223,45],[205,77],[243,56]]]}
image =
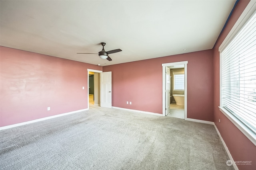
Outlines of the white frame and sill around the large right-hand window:
{"label": "white frame and sill around the large right-hand window", "polygon": [[[244,12],[241,14],[240,18],[236,21],[233,28],[228,33],[227,37],[224,39],[219,47],[220,52],[220,106],[221,106],[221,52],[227,47],[227,45],[232,41],[236,34],[242,29],[243,25],[251,18],[252,14],[256,11],[256,1],[251,0]],[[234,125],[246,136],[254,145],[256,145],[256,135],[248,129],[243,123],[241,123],[234,115],[227,111],[224,107],[219,107],[220,111],[228,117],[228,119],[234,123]]]}

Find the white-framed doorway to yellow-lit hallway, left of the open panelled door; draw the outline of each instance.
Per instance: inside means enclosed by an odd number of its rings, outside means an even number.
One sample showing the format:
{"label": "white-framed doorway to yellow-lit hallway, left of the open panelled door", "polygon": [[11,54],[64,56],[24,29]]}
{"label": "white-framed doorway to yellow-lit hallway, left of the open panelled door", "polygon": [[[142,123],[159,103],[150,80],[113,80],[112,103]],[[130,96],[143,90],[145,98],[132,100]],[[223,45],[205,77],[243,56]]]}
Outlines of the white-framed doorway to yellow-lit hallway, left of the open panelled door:
{"label": "white-framed doorway to yellow-lit hallway, left of the open panelled door", "polygon": [[87,69],[88,72],[88,108],[90,105],[100,106],[100,72],[101,70]]}

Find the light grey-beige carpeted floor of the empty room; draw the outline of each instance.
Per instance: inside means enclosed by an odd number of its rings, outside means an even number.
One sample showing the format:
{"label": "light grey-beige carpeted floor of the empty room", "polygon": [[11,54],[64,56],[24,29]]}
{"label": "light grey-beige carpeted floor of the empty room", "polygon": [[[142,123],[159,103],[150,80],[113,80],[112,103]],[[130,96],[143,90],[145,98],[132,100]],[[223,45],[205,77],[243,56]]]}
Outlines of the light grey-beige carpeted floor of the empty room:
{"label": "light grey-beige carpeted floor of the empty room", "polygon": [[90,106],[0,131],[2,170],[232,170],[213,125]]}

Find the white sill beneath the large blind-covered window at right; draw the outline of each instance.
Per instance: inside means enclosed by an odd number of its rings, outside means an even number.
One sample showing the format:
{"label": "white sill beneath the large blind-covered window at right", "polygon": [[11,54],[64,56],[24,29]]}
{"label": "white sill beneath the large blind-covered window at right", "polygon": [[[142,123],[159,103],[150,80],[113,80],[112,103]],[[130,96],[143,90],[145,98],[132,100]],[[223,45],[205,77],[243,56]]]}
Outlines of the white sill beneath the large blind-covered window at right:
{"label": "white sill beneath the large blind-covered window at right", "polygon": [[228,117],[228,119],[234,123],[234,125],[254,144],[256,145],[256,135],[248,129],[243,123],[241,123],[234,115],[229,113],[224,107],[219,107],[220,111]]}

